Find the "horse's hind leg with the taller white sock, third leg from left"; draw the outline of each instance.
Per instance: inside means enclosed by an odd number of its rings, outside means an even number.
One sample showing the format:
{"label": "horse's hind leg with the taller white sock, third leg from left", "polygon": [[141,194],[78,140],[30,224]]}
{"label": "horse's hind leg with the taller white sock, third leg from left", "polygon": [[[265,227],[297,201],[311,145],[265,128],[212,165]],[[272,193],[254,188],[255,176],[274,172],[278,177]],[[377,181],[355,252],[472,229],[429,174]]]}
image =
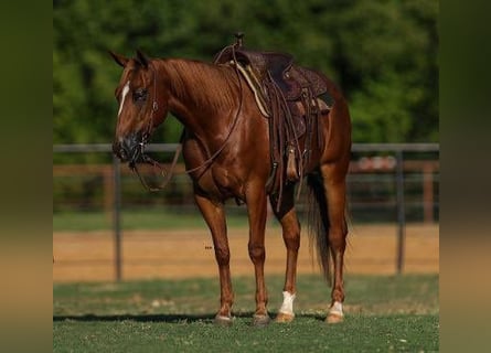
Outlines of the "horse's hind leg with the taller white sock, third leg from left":
{"label": "horse's hind leg with the taller white sock, third leg from left", "polygon": [[291,322],[295,318],[293,300],[297,293],[297,258],[300,247],[300,224],[293,208],[293,186],[282,195],[281,207],[277,212],[277,200],[271,200],[275,215],[281,224],[282,237],[287,248],[287,266],[285,272],[284,301],[276,317],[276,322]]}

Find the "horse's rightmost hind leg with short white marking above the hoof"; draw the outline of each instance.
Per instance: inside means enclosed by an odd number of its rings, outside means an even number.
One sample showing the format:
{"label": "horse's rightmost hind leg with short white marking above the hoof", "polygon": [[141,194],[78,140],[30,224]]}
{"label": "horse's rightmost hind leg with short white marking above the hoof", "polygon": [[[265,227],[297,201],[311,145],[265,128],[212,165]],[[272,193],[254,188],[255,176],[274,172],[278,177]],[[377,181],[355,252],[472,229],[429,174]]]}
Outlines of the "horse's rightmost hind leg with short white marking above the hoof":
{"label": "horse's rightmost hind leg with short white marking above the hoof", "polygon": [[327,318],[329,323],[342,321],[344,315],[342,309],[342,303],[344,301],[343,261],[348,235],[348,225],[345,221],[345,165],[337,163],[321,165],[324,194],[329,204],[328,239],[334,265],[331,307]]}

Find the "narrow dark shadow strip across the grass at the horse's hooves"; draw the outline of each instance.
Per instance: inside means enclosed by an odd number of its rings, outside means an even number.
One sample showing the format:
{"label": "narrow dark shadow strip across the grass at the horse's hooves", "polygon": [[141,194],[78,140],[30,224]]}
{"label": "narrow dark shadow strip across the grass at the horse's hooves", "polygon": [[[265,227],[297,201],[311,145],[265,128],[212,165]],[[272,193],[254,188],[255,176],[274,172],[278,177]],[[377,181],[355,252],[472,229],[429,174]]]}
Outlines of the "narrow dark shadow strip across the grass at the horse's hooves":
{"label": "narrow dark shadow strip across the grass at the horse's hooves", "polygon": [[[275,320],[277,312],[269,313],[271,319]],[[252,319],[254,312],[239,312],[234,313],[233,317],[237,319]],[[324,321],[325,317],[312,313],[300,313],[297,318],[314,319],[318,321]],[[83,315],[53,315],[53,322],[61,321],[76,321],[76,322],[117,322],[117,321],[137,321],[137,322],[166,322],[166,323],[183,323],[183,322],[204,322],[214,323],[215,314],[83,314]]]}

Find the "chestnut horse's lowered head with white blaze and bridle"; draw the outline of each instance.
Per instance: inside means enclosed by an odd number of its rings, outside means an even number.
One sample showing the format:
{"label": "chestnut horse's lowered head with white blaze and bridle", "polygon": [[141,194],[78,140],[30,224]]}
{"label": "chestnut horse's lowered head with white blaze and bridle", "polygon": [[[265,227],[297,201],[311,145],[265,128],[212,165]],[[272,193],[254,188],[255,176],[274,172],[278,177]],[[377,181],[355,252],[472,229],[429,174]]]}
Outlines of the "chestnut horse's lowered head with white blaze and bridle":
{"label": "chestnut horse's lowered head with white blaze and bridle", "polygon": [[124,67],[115,90],[119,110],[113,151],[134,168],[143,157],[143,146],[152,131],[167,115],[168,97],[150,58],[139,51],[134,58],[110,54]]}

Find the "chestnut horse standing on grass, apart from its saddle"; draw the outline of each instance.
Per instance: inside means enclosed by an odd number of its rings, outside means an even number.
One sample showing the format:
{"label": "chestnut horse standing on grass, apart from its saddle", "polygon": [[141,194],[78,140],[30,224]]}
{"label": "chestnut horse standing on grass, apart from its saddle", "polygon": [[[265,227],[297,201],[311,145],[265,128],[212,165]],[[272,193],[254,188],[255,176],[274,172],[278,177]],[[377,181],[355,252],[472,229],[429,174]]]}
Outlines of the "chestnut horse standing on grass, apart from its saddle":
{"label": "chestnut horse standing on grass, apart from its saddle", "polygon": [[[265,186],[270,175],[268,121],[259,111],[252,89],[234,67],[182,58],[150,58],[137,51],[128,58],[110,53],[124,67],[115,95],[118,100],[114,153],[131,169],[141,161],[152,131],[172,113],[184,126],[182,153],[194,188],[194,199],[213,237],[218,265],[221,307],[215,322],[232,323],[230,249],[224,203],[234,197],[247,205],[248,253],[256,278],[253,323],[267,324],[265,286],[265,227],[267,200],[281,224],[287,261],[284,302],[276,321],[293,320],[300,224],[295,211],[295,183],[286,183],[279,207]],[[333,282],[327,322],[343,320],[343,256],[348,234],[345,175],[351,152],[348,105],[334,84],[325,78],[332,109],[320,118],[305,168],[314,206],[313,244],[324,275]],[[317,131],[316,131],[317,132]],[[323,141],[317,141],[318,136]],[[321,143],[318,143],[321,142]],[[329,204],[329,206],[328,206]],[[311,217],[309,217],[311,221]],[[332,264],[331,264],[332,261]]]}

